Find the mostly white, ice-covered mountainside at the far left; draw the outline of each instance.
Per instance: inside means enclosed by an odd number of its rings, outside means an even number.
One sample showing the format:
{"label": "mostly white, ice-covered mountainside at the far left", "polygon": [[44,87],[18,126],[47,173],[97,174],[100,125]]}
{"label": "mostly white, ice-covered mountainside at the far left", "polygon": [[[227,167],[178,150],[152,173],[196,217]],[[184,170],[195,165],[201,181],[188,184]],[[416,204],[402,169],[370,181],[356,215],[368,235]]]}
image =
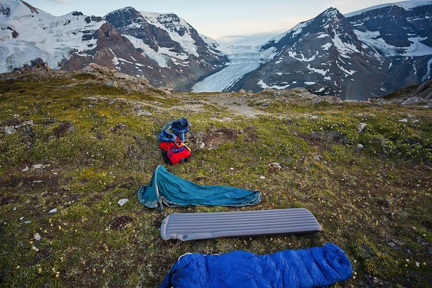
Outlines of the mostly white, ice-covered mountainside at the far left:
{"label": "mostly white, ice-covered mountainside at the far left", "polygon": [[102,18],[72,12],[55,17],[24,1],[0,1],[0,72],[44,60],[53,69],[71,53],[96,46]]}

